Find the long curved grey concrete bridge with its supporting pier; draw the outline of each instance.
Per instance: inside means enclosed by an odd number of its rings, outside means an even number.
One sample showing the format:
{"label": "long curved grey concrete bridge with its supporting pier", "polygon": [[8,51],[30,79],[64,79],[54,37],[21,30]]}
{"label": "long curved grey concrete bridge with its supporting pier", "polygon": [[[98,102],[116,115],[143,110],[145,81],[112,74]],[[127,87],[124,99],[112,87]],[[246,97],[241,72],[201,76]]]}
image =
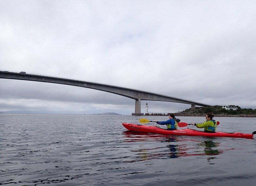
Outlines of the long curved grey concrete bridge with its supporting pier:
{"label": "long curved grey concrete bridge with its supporting pier", "polygon": [[26,73],[23,71],[16,72],[16,71],[0,70],[0,78],[26,80],[26,81],[38,81],[38,82],[46,82],[46,83],[57,83],[57,84],[63,84],[63,85],[83,87],[88,89],[95,89],[99,91],[122,95],[135,100],[135,112],[133,115],[143,115],[143,113],[141,113],[141,103],[140,103],[141,100],[167,101],[167,102],[191,104],[191,108],[195,108],[196,105],[212,106],[208,104],[198,103],[195,101],[185,100],[177,97],[171,97],[168,95],[152,93],[152,92],[147,92],[147,91],[142,91],[142,90],[137,90],[132,88],[126,88],[126,87],[120,87],[115,85],[102,84],[102,83],[84,81],[84,80],[78,80],[78,79],[70,79],[70,78],[64,78],[64,77]]}

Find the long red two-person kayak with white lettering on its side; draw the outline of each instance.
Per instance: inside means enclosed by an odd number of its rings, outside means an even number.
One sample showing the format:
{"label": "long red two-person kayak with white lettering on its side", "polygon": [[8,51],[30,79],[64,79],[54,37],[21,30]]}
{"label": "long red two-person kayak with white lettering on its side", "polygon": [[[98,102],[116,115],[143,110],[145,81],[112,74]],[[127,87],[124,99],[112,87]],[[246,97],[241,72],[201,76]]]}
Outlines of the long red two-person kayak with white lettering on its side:
{"label": "long red two-person kayak with white lettering on its side", "polygon": [[167,130],[160,128],[158,126],[147,126],[147,125],[138,125],[131,123],[122,123],[125,128],[128,130],[136,132],[149,132],[155,134],[168,134],[168,135],[179,135],[179,136],[208,136],[208,137],[231,137],[231,138],[249,138],[253,139],[253,134],[256,134],[254,131],[252,134],[243,134],[240,132],[226,133],[226,132],[203,132],[198,130],[193,130],[190,128],[177,129],[177,130]]}

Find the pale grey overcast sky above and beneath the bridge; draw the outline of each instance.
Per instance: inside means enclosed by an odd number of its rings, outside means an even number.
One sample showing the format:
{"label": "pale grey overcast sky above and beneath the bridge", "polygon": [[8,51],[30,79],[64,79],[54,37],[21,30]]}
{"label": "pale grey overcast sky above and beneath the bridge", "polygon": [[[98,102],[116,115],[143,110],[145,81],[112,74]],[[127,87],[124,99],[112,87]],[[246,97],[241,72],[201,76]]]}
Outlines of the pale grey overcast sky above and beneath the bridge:
{"label": "pale grey overcast sky above and beneath the bridge", "polygon": [[[254,0],[1,0],[0,69],[256,109]],[[191,105],[141,101],[149,112]],[[0,79],[0,111],[130,115],[135,100]]]}

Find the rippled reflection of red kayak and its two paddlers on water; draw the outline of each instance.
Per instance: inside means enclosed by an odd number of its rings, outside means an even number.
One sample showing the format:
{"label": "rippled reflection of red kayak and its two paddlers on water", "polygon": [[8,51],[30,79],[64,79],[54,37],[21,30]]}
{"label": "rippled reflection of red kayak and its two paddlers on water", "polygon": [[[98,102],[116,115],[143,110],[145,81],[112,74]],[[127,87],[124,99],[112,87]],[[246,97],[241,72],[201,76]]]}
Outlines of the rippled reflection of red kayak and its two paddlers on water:
{"label": "rippled reflection of red kayak and its two paddlers on water", "polygon": [[[165,146],[155,144],[153,148],[146,148],[147,143],[141,143],[139,149],[133,149],[132,151],[137,152],[135,155],[138,155],[143,160],[170,159],[183,156],[213,156],[222,153],[221,150],[217,149],[219,143],[213,142],[212,140],[202,142],[193,139],[184,139],[181,136],[150,134],[135,131],[125,131],[123,133],[128,138],[125,140],[125,142],[128,143],[152,141],[168,143]],[[191,142],[193,143],[191,144]],[[194,144],[194,142],[196,142],[196,144]],[[214,159],[214,157],[211,157],[210,159]]]}

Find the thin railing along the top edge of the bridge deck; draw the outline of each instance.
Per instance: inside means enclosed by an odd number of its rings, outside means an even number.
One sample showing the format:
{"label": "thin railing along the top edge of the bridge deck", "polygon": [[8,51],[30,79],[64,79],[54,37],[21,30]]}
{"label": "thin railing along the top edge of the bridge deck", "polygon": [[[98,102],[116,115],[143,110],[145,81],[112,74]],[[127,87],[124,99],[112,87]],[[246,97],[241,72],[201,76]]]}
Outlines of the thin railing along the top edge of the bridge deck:
{"label": "thin railing along the top edge of the bridge deck", "polygon": [[[11,73],[20,73],[20,71],[13,71],[13,70],[2,70],[2,69],[0,69],[0,71],[2,71],[2,72],[11,72]],[[30,72],[26,72],[26,74],[27,75],[38,75],[38,76],[44,76],[44,77],[53,77],[53,78],[74,80],[74,81],[82,81],[82,82],[89,82],[89,83],[96,83],[96,84],[100,84],[100,85],[107,85],[107,86],[111,86],[111,87],[118,87],[118,88],[125,88],[125,89],[140,91],[140,92],[144,92],[144,93],[153,93],[153,92],[143,91],[143,90],[139,90],[139,89],[123,87],[123,86],[111,85],[111,84],[106,84],[106,83],[99,83],[99,82],[94,82],[94,81],[85,81],[85,80],[82,80],[82,79],[74,79],[74,78],[52,76],[52,75],[44,75],[44,74],[35,74],[35,73],[30,73]],[[159,93],[153,93],[153,94],[162,95],[162,96],[166,96],[166,97],[171,97],[171,98],[175,98],[175,99],[180,99],[180,100],[183,100],[183,101],[194,102],[194,101],[191,101],[191,100],[182,99],[182,98],[179,98],[179,97],[173,97],[173,96],[169,96],[169,95],[165,95],[165,94],[159,94]],[[199,102],[194,102],[194,103],[198,103],[198,104],[201,104],[201,105],[203,104],[203,103],[199,103]]]}

